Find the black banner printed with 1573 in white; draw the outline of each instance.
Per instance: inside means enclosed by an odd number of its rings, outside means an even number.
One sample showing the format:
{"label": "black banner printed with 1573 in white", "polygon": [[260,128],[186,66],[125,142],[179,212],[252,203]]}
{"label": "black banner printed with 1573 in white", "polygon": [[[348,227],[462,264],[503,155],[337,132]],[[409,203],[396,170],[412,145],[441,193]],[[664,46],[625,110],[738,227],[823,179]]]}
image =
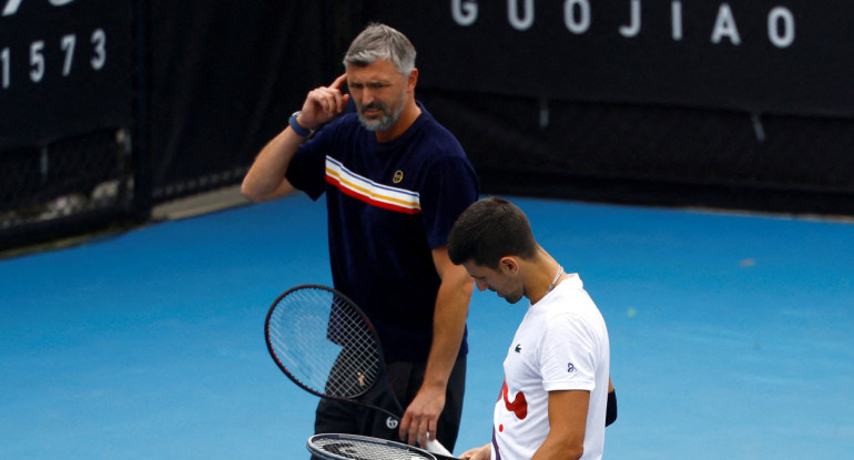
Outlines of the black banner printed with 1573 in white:
{"label": "black banner printed with 1573 in white", "polygon": [[131,119],[132,4],[0,0],[0,149]]}

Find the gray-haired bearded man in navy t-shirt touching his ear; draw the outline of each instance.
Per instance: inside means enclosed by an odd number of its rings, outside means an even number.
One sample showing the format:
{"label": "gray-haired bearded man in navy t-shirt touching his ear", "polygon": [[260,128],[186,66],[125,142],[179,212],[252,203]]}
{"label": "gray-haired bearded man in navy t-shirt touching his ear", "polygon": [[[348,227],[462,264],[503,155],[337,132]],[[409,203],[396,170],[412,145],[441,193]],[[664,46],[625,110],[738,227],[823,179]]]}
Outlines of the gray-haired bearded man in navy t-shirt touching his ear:
{"label": "gray-haired bearded man in navy t-shirt touching his ear", "polygon": [[[379,411],[322,400],[315,431],[421,446],[429,436],[453,449],[474,285],[446,244],[457,216],[478,198],[479,182],[456,137],[415,100],[415,54],[400,32],[368,25],[345,55],[346,73],[308,93],[261,151],[242,191],[254,201],[294,190],[313,200],[326,194],[333,282],[377,328],[406,407],[397,427]],[[356,112],[343,114],[349,103]]]}

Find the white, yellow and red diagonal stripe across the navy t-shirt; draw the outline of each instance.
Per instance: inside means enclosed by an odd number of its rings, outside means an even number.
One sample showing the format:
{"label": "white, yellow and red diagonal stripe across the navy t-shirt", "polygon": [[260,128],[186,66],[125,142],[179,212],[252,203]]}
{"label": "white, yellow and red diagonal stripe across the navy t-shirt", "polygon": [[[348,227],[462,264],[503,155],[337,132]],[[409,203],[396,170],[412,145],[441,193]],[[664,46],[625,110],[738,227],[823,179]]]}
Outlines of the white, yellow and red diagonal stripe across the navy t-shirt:
{"label": "white, yellow and red diagonal stripe across the navy t-shirt", "polygon": [[326,182],[342,193],[372,206],[404,214],[420,214],[421,203],[417,192],[389,187],[363,177],[340,164],[335,159],[326,157]]}

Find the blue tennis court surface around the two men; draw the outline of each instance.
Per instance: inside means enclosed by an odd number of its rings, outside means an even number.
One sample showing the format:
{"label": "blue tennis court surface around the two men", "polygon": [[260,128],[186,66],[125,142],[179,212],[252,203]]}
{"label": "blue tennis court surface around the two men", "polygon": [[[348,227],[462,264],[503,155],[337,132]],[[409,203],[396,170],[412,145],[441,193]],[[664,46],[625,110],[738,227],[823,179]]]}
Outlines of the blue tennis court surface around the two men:
{"label": "blue tennis court surface around the two men", "polygon": [[[854,224],[510,198],[608,321],[606,458],[851,458]],[[263,323],[331,283],[325,235],[298,196],[0,260],[0,459],[307,458],[317,398]],[[523,309],[474,296],[455,453]]]}

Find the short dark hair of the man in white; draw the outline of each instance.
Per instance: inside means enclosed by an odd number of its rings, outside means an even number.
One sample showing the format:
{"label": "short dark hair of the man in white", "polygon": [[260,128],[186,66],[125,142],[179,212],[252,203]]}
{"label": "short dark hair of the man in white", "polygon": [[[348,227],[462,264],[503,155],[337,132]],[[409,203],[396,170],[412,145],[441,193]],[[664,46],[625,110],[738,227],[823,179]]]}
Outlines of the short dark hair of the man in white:
{"label": "short dark hair of the man in white", "polygon": [[496,268],[501,257],[530,259],[536,254],[537,242],[528,217],[518,206],[497,196],[472,203],[448,235],[448,256],[456,265],[471,260]]}

